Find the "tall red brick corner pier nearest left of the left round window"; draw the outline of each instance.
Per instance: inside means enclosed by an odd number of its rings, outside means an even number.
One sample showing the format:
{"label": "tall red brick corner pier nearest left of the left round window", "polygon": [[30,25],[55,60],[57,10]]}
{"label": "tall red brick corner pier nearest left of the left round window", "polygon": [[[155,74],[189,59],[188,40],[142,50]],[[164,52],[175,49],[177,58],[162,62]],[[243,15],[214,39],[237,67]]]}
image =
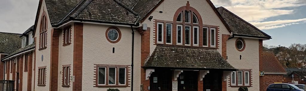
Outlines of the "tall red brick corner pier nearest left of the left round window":
{"label": "tall red brick corner pier nearest left of the left round window", "polygon": [[73,34],[73,76],[72,91],[82,91],[83,72],[83,23],[74,23]]}

